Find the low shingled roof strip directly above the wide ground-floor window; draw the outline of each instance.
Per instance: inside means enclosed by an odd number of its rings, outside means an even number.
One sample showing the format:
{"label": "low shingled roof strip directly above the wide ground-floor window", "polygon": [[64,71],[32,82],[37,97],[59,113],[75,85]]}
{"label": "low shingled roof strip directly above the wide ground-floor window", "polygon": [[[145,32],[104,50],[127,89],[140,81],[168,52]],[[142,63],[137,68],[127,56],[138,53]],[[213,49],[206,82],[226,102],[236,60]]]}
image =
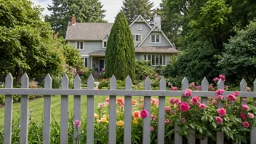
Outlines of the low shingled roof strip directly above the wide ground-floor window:
{"label": "low shingled roof strip directly above the wide ground-floor window", "polygon": [[153,52],[153,53],[178,53],[175,47],[136,47],[135,52]]}

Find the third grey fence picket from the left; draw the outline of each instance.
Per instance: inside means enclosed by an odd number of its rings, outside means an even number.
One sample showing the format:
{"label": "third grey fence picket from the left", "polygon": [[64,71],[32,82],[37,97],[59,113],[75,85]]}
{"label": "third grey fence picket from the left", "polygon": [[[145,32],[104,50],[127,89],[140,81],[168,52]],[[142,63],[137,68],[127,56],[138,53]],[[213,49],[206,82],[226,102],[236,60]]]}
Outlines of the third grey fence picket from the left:
{"label": "third grey fence picket from the left", "polygon": [[[47,74],[44,79],[44,89],[52,89],[52,78]],[[51,124],[51,95],[44,95],[44,129],[43,129],[43,143],[49,144],[50,133],[49,127]]]}

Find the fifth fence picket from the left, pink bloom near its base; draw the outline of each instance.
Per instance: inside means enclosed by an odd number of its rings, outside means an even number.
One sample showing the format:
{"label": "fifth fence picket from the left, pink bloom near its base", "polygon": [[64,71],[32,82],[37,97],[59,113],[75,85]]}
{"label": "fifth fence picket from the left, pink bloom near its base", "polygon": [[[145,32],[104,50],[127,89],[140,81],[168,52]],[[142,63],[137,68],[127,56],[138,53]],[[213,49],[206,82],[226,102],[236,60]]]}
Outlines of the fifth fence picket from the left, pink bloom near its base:
{"label": "fifth fence picket from the left, pink bloom near its base", "polygon": [[[81,79],[79,75],[76,75],[75,81],[74,81],[74,89],[81,89]],[[73,120],[79,120],[81,121],[81,95],[74,95],[73,96]],[[78,139],[81,127],[74,127],[73,131],[73,144],[79,144],[80,141]],[[77,141],[77,142],[76,142]]]}

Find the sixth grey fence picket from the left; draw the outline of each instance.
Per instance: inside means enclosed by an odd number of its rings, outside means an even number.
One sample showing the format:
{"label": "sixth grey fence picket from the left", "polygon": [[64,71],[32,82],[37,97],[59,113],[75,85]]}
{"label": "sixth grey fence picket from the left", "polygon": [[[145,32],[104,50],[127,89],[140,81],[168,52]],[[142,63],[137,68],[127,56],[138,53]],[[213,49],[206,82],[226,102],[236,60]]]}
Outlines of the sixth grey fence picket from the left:
{"label": "sixth grey fence picket from the left", "polygon": [[[94,89],[95,79],[92,74],[87,80],[87,89]],[[93,132],[93,115],[95,111],[95,100],[94,95],[87,95],[87,144],[93,144],[94,132]]]}

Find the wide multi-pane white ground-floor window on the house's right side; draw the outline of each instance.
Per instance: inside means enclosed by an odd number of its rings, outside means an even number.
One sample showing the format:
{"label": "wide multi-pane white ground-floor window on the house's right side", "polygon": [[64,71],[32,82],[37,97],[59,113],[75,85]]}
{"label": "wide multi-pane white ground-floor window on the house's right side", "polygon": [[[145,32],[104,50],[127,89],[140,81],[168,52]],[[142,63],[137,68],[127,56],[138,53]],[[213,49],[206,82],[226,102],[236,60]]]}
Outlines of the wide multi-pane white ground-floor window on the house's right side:
{"label": "wide multi-pane white ground-floor window on the house's right side", "polygon": [[166,65],[166,55],[144,55],[144,60],[151,61],[151,65]]}

